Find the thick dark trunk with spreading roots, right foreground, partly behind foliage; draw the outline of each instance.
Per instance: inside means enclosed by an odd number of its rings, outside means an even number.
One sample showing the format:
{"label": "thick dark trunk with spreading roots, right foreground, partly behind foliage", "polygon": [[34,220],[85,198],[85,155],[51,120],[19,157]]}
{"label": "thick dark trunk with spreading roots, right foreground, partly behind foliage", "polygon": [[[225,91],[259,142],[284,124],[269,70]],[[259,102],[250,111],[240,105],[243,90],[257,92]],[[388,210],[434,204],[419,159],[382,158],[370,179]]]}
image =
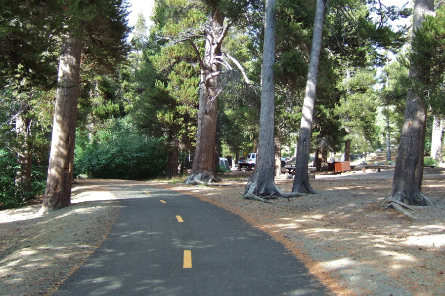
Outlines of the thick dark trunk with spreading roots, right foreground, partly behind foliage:
{"label": "thick dark trunk with spreading roots, right foreground, partly behind foliage", "polygon": [[[415,0],[413,36],[420,29],[426,14],[432,11],[434,11],[434,0]],[[425,85],[427,81],[422,76],[422,72],[426,70],[420,69],[411,62],[409,79],[417,80]],[[397,200],[407,205],[432,205],[432,202],[421,191],[427,117],[423,100],[423,94],[418,94],[414,89],[408,88],[393,186],[390,194],[385,197],[384,204]]]}

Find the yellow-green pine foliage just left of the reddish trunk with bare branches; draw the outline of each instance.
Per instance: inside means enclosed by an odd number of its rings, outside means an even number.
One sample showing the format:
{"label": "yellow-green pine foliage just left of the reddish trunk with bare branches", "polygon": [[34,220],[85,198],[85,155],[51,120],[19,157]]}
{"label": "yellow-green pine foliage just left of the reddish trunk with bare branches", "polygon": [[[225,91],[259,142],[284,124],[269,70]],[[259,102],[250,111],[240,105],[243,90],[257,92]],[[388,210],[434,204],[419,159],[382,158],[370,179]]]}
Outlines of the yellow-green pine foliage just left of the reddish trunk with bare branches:
{"label": "yellow-green pine foliage just left of the reddish trunk with bare branches", "polygon": [[[198,27],[205,15],[188,1],[158,1],[149,42],[136,72],[142,92],[134,102],[136,124],[157,137],[192,148],[197,129],[199,65],[188,44],[162,46],[156,36]],[[198,7],[199,8],[199,7]]]}

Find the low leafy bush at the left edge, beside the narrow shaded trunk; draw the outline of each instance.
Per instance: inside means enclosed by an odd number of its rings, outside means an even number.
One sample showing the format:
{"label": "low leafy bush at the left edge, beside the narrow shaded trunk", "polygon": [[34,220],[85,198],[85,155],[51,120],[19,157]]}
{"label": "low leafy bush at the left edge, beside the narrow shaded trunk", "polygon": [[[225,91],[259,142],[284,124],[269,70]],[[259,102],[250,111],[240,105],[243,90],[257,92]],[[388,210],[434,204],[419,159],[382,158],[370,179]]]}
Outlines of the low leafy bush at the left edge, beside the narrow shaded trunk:
{"label": "low leafy bush at the left edge, beside the narrow shaded trunk", "polygon": [[16,195],[15,174],[18,165],[14,153],[0,149],[0,209],[9,209],[23,204]]}

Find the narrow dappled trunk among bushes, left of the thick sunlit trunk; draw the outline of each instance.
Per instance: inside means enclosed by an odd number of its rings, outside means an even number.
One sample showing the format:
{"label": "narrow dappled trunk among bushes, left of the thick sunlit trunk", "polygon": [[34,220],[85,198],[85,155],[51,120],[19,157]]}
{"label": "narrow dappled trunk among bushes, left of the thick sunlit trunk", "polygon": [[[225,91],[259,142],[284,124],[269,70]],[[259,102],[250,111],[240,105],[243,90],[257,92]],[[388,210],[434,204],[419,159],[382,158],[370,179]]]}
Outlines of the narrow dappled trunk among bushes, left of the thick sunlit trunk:
{"label": "narrow dappled trunk among bushes, left of the thick sunlit trunk", "polygon": [[29,141],[29,132],[31,120],[28,117],[29,105],[25,102],[20,104],[20,111],[15,120],[15,130],[17,133],[17,140],[20,146],[17,148],[17,161],[20,165],[20,170],[15,176],[15,184],[21,191],[25,199],[33,196],[26,196],[26,193],[32,192],[31,185],[31,171],[32,171],[32,147]]}

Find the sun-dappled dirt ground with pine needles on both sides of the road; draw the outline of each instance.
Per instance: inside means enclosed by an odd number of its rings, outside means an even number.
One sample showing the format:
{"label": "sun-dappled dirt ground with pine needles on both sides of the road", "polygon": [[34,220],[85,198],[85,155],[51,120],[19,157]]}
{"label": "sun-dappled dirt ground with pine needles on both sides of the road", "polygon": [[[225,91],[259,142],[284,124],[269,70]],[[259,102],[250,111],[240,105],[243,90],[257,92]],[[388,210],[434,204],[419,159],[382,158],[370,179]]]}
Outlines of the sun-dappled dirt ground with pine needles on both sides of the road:
{"label": "sun-dappled dirt ground with pine needles on both sides of the road", "polygon": [[[82,181],[73,190],[78,203],[49,216],[33,218],[38,205],[0,212],[0,295],[50,295],[88,260],[118,215],[107,186],[147,184],[192,194],[241,216],[283,243],[333,295],[444,296],[445,168],[425,169],[423,192],[434,205],[414,207],[415,219],[380,205],[393,172],[319,173],[311,179],[318,194],[275,204],[240,197],[251,172],[224,174],[227,186]],[[276,180],[286,192],[292,182]]]}

